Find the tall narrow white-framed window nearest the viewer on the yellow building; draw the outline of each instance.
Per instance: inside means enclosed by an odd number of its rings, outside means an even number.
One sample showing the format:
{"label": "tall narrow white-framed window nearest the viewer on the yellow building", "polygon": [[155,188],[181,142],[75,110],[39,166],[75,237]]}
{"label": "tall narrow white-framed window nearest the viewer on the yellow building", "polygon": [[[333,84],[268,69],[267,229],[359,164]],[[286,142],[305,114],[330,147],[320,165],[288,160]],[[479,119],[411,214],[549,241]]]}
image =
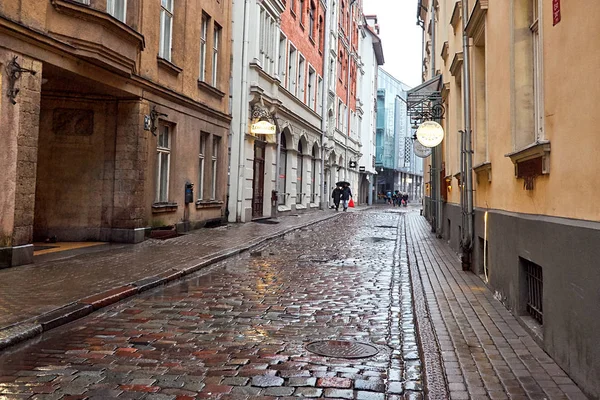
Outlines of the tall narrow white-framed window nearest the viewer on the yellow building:
{"label": "tall narrow white-framed window nearest the viewer on the yellow building", "polygon": [[533,18],[531,26],[532,44],[533,44],[533,113],[535,140],[544,138],[544,110],[543,110],[543,80],[542,80],[542,43],[540,39],[540,15],[541,1],[532,0]]}

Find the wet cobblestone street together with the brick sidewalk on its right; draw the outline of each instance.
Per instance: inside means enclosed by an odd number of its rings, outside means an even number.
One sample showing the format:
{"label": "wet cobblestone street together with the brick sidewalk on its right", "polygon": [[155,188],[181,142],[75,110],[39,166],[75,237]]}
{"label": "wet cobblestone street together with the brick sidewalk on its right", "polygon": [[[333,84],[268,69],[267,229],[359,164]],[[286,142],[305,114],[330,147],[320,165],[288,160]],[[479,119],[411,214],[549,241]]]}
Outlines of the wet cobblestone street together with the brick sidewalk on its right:
{"label": "wet cobblestone street together with the brick sidewalk on its right", "polygon": [[457,264],[418,212],[345,213],[5,349],[0,399],[585,398]]}

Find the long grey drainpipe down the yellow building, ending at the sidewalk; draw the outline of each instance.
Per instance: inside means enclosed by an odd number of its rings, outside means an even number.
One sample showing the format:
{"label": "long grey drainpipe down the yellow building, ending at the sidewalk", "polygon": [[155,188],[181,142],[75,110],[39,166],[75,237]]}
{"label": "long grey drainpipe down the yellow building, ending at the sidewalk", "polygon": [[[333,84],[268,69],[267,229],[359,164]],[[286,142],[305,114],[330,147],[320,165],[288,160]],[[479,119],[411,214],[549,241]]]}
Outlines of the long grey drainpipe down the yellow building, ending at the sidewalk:
{"label": "long grey drainpipe down the yellow building, ending at the sidewalk", "polygon": [[471,76],[469,71],[469,38],[467,37],[467,17],[469,15],[468,0],[462,0],[463,28],[463,108],[465,113],[465,183],[466,183],[466,235],[462,245],[463,270],[471,268],[473,250],[473,150],[471,148]]}

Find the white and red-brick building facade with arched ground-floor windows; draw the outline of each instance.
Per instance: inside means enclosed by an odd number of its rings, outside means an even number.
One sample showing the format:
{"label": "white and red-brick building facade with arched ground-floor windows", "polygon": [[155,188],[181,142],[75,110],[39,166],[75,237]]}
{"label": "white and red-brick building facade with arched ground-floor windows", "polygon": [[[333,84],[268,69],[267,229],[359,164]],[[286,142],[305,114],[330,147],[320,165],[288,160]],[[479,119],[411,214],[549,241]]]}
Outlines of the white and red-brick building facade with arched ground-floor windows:
{"label": "white and red-brick building facade with arched ground-floor windows", "polygon": [[[325,208],[336,182],[358,187],[358,168],[347,161],[356,165],[360,149],[362,10],[351,8],[352,14],[347,4],[325,0],[234,2],[230,221]],[[339,40],[350,48],[350,26],[352,51],[338,54]],[[254,32],[258,40],[249,40]],[[261,121],[275,133],[253,133]]]}

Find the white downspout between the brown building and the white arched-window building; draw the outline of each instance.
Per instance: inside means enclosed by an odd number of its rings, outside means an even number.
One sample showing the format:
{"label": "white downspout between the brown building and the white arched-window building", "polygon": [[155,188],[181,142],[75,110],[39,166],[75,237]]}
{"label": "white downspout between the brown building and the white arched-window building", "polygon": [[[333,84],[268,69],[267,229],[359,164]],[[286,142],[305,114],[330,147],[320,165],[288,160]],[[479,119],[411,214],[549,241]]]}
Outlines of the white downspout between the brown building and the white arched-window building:
{"label": "white downspout between the brown building and the white arched-window building", "polygon": [[250,24],[250,13],[248,11],[250,0],[244,0],[244,30],[242,39],[242,86],[240,90],[240,128],[238,137],[238,171],[237,171],[237,190],[236,190],[236,221],[242,220],[242,210],[244,201],[242,199],[242,193],[244,185],[244,169],[245,169],[245,136],[248,130],[248,45],[249,45],[249,24]]}

